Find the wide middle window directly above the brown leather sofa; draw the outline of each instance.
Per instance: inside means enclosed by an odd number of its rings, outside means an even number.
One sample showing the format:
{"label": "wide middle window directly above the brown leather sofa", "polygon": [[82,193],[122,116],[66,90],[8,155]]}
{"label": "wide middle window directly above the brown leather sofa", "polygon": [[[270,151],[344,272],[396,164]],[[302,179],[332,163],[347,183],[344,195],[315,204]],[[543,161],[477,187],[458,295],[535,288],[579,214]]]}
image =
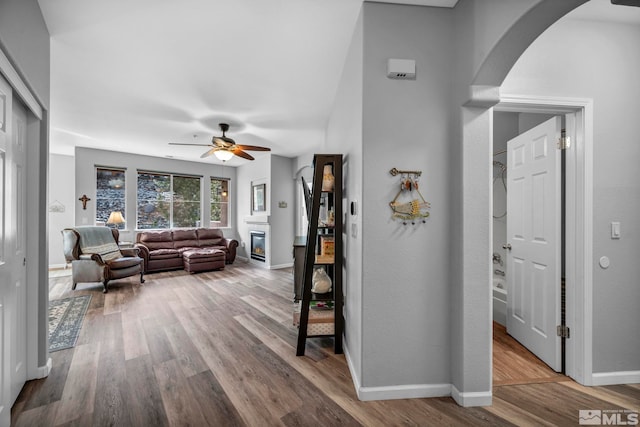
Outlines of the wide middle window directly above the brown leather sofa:
{"label": "wide middle window directly above the brown leather sofa", "polygon": [[138,171],[138,229],[200,225],[200,177]]}

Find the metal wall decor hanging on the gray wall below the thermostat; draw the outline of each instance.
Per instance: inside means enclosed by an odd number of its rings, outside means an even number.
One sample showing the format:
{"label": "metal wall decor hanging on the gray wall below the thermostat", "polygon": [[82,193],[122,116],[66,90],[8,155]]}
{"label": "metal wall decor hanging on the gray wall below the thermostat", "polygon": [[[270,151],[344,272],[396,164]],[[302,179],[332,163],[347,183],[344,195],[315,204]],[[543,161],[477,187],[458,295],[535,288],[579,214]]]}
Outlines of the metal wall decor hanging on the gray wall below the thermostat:
{"label": "metal wall decor hanging on the gray wall below the thermostat", "polygon": [[419,190],[418,178],[422,171],[404,171],[393,168],[389,171],[392,176],[400,175],[400,190],[398,194],[389,202],[393,211],[391,218],[401,220],[402,225],[407,225],[411,221],[415,225],[416,220],[426,223],[425,218],[429,217],[428,209],[431,204],[427,202]]}

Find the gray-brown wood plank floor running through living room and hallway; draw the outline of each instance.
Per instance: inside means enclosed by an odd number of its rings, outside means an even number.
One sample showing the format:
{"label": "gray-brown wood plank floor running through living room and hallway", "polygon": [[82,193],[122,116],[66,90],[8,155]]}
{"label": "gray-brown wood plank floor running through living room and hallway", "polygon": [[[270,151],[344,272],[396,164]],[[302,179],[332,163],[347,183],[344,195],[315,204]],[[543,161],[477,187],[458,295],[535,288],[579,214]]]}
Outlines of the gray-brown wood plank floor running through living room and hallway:
{"label": "gray-brown wood plank floor running through living room and hallway", "polygon": [[113,282],[106,295],[50,279],[52,298],[89,293],[91,304],[75,348],[52,353],[49,377],[25,385],[13,425],[567,426],[579,409],[640,409],[640,385],[572,381],[496,386],[486,408],[447,397],[361,402],[330,339],[295,356],[289,270],[236,263],[146,279]]}

